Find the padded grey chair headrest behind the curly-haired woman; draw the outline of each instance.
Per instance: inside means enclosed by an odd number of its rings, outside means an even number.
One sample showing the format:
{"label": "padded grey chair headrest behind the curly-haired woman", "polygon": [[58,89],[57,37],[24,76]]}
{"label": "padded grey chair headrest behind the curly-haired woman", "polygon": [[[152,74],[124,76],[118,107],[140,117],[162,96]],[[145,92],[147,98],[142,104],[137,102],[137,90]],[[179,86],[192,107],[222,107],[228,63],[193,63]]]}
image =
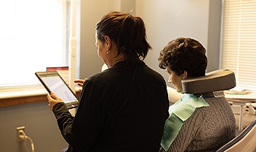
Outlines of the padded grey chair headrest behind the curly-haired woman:
{"label": "padded grey chair headrest behind the curly-haired woman", "polygon": [[219,69],[202,77],[183,79],[181,83],[183,93],[210,93],[236,87],[236,77],[233,71]]}

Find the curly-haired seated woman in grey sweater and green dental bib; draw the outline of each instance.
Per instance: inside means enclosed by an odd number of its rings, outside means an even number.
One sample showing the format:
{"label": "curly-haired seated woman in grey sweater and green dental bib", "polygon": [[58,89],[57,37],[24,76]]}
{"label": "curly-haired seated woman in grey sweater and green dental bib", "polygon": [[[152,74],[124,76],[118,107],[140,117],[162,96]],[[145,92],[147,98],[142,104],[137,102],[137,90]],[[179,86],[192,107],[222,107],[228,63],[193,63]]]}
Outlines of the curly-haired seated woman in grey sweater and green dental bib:
{"label": "curly-haired seated woman in grey sweater and green dental bib", "polygon": [[[170,41],[159,56],[159,67],[167,71],[168,82],[183,93],[182,79],[205,75],[206,50],[192,38]],[[233,111],[225,97],[213,93],[184,93],[169,108],[160,151],[216,151],[236,135]]]}

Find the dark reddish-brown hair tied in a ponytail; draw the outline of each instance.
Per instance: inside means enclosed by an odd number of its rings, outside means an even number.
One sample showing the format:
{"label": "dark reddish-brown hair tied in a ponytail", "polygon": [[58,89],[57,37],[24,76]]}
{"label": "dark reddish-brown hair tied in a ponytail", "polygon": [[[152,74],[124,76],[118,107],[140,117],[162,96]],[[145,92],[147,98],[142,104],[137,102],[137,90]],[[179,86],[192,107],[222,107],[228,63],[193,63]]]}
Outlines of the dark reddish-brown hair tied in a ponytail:
{"label": "dark reddish-brown hair tied in a ponytail", "polygon": [[151,49],[146,40],[143,20],[131,13],[113,11],[106,14],[97,23],[96,33],[102,43],[105,42],[105,35],[108,35],[117,44],[117,56],[123,53],[128,62],[145,59],[148,49]]}

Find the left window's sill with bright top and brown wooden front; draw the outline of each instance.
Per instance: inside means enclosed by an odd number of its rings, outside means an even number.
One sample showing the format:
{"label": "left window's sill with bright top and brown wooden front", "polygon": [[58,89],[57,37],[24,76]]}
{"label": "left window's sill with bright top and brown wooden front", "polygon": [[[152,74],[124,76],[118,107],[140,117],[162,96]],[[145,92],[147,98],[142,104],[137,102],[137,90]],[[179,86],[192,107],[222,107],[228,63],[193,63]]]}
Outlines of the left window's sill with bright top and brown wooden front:
{"label": "left window's sill with bright top and brown wooden front", "polygon": [[[47,91],[42,86],[0,90],[0,107],[46,102]],[[76,97],[80,92],[76,89]]]}

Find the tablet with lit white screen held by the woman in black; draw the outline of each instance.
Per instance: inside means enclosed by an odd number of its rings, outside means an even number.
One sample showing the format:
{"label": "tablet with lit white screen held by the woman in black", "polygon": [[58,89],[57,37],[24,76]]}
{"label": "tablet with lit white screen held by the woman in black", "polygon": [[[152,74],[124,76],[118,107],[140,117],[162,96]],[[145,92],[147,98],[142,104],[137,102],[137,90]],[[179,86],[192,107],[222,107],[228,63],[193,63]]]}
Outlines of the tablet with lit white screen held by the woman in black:
{"label": "tablet with lit white screen held by the woman in black", "polygon": [[67,105],[67,108],[76,108],[79,104],[73,91],[67,86],[58,71],[38,71],[36,77],[48,91],[55,93]]}

